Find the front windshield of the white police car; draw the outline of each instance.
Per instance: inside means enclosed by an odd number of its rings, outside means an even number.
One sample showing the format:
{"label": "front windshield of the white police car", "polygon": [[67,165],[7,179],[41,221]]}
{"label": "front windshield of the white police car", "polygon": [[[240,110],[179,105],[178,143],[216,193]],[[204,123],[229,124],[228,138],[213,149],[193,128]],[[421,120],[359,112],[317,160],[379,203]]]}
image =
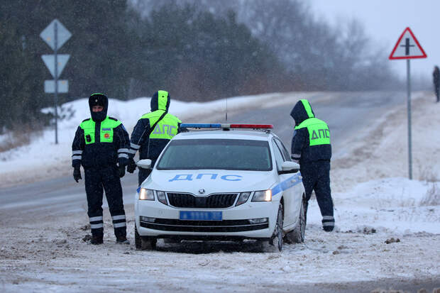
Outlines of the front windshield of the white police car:
{"label": "front windshield of the white police car", "polygon": [[171,140],[157,169],[272,170],[269,143],[265,140]]}

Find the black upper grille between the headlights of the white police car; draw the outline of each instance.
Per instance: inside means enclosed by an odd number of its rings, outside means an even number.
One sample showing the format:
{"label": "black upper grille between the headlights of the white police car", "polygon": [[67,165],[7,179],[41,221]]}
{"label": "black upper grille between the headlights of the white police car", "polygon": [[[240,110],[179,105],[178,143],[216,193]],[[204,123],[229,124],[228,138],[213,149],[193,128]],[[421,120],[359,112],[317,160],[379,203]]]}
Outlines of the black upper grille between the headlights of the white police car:
{"label": "black upper grille between the headlights of the white police car", "polygon": [[187,193],[167,193],[168,202],[177,208],[223,209],[233,205],[237,194],[210,194],[208,197],[196,197]]}

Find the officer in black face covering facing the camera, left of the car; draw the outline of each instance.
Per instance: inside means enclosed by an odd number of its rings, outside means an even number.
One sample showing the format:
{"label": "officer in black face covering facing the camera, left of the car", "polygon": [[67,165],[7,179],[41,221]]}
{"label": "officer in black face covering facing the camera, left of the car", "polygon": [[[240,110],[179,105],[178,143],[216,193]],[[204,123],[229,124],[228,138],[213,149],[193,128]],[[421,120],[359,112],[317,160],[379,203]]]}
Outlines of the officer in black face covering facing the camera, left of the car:
{"label": "officer in black face covering facing the camera, left of the car", "polygon": [[92,244],[103,243],[103,188],[106,192],[117,243],[129,244],[126,238],[126,214],[123,210],[121,179],[128,164],[130,139],[121,121],[107,116],[109,99],[96,93],[89,97],[92,118],[77,128],[72,143],[73,177],[81,178],[84,167],[87,204],[92,230]]}

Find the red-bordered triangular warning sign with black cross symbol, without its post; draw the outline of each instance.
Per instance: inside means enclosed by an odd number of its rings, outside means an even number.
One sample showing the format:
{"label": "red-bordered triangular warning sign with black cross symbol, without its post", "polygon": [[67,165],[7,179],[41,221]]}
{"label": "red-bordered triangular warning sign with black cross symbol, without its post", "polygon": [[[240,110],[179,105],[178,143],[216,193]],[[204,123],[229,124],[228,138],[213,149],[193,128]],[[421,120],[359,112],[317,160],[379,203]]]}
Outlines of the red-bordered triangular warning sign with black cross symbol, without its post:
{"label": "red-bordered triangular warning sign with black cross symbol, without its post", "polygon": [[414,36],[410,28],[405,28],[399,40],[392,49],[390,59],[412,59],[412,58],[426,58],[427,53],[424,52],[419,41]]}

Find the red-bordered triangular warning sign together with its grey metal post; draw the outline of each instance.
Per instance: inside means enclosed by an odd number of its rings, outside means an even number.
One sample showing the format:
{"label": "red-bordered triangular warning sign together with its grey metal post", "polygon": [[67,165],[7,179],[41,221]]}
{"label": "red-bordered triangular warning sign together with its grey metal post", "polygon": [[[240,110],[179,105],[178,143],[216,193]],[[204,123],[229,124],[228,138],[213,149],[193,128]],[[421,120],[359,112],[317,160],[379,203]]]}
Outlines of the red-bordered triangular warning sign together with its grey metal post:
{"label": "red-bordered triangular warning sign together with its grey metal post", "polygon": [[389,59],[406,59],[407,60],[407,111],[408,111],[408,175],[412,179],[412,143],[411,143],[411,68],[409,60],[414,58],[426,58],[419,41],[414,36],[410,28],[405,28],[402,35],[392,50]]}

